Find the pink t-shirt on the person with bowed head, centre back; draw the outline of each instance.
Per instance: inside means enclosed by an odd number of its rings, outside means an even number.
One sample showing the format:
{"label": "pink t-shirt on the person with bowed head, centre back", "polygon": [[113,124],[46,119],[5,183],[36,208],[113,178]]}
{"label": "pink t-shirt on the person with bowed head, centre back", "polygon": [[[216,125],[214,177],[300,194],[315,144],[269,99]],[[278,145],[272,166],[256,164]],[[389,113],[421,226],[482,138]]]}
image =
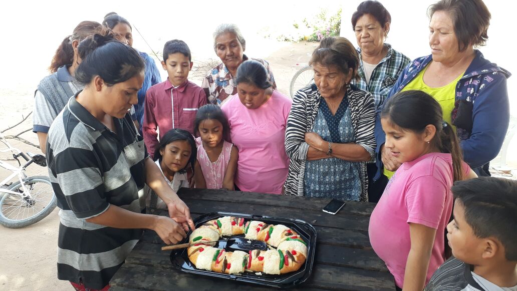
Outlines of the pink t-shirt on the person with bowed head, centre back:
{"label": "pink t-shirt on the person with bowed head, centre back", "polygon": [[281,194],[289,165],[284,142],[291,99],[273,90],[262,106],[247,109],[238,94],[230,98],[221,109],[239,150],[235,184],[241,191]]}

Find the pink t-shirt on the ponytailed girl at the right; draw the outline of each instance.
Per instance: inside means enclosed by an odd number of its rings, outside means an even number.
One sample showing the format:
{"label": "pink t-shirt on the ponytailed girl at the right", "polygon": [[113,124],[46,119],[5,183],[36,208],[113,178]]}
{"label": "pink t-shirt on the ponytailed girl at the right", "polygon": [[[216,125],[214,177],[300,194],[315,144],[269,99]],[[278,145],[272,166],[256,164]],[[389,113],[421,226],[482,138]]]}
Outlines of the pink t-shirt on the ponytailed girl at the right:
{"label": "pink t-shirt on the ponytailed girl at the right", "polygon": [[[463,163],[465,174],[470,170]],[[431,152],[403,163],[389,180],[370,217],[368,233],[375,253],[386,263],[397,286],[404,284],[411,248],[408,223],[436,229],[425,284],[445,262],[445,227],[452,212],[450,154]]]}

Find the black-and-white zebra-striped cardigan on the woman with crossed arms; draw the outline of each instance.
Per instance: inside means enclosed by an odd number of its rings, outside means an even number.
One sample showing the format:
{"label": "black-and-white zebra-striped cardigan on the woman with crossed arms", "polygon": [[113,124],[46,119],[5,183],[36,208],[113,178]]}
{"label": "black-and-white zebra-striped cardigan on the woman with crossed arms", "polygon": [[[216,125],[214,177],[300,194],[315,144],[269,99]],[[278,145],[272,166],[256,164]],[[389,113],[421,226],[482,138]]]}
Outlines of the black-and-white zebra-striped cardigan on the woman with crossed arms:
{"label": "black-and-white zebra-striped cardigan on the woman with crossed arms", "polygon": [[[373,158],[375,155],[375,102],[367,91],[354,85],[347,89],[348,103],[351,110],[352,124],[355,131],[355,143],[364,147]],[[321,95],[315,84],[301,88],[293,98],[291,113],[287,118],[285,130],[285,151],[290,157],[289,173],[285,181],[285,194],[303,196],[303,178],[309,145],[305,142],[305,133],[314,125]],[[361,162],[361,201],[368,201],[368,178],[366,162]]]}

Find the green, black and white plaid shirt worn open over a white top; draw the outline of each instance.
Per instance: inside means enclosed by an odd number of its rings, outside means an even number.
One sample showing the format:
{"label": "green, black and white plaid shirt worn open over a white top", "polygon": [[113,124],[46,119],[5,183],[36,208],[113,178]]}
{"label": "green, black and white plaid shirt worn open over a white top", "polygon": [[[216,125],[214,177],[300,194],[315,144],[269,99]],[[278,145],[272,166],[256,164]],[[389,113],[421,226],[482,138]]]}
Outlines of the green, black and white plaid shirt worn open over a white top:
{"label": "green, black and white plaid shirt worn open over a white top", "polygon": [[361,49],[357,48],[359,54],[360,64],[357,73],[361,78],[359,81],[352,80],[352,84],[359,89],[369,91],[373,95],[375,101],[375,108],[379,108],[388,96],[391,87],[399,79],[399,75],[407,64],[411,61],[407,56],[399,53],[391,48],[391,44],[385,43],[388,48],[388,53],[381,59],[381,62],[375,67],[370,77],[370,84],[366,83],[366,76],[364,76],[364,67],[362,65]]}

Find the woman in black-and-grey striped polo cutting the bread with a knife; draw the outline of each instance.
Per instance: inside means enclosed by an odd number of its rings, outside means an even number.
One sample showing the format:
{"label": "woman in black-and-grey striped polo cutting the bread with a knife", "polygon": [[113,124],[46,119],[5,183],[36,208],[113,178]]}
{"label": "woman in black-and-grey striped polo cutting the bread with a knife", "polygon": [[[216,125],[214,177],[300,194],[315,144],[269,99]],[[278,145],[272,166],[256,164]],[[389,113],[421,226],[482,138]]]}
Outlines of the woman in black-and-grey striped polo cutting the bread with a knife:
{"label": "woman in black-and-grey striped polo cutting the bread with a knife", "polygon": [[[144,62],[138,52],[95,34],[81,41],[75,78],[84,89],[69,99],[47,139],[47,164],[59,211],[57,276],[76,290],[107,290],[142,229],[167,244],[195,228],[190,211],[149,159],[129,111],[138,101]],[[169,217],[143,214],[144,184]]]}

